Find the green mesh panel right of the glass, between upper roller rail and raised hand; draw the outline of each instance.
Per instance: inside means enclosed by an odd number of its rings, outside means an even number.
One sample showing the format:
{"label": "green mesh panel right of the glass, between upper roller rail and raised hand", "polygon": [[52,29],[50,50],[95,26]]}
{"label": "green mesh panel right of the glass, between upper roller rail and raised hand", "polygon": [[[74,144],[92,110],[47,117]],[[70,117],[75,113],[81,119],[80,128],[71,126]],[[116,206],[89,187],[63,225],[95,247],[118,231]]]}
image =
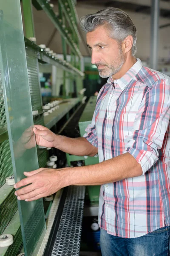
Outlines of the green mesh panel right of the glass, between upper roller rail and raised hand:
{"label": "green mesh panel right of the glass, between upper roller rail and raised hand", "polygon": [[27,58],[27,67],[28,67],[28,79],[29,79],[29,88],[31,95],[31,105],[32,110],[41,110],[41,93],[39,86],[39,77],[38,77],[38,62],[37,58],[28,55]]}

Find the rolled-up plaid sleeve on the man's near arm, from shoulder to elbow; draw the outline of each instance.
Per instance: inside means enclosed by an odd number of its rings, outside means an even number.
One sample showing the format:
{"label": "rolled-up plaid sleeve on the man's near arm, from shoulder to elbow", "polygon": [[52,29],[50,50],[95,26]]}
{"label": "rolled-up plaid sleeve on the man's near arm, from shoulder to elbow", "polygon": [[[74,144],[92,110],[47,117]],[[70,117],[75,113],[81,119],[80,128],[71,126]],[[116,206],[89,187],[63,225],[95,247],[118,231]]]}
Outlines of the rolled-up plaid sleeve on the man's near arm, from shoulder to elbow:
{"label": "rolled-up plaid sleeve on the man's near arm, from shoulder to elbow", "polygon": [[133,131],[126,136],[123,153],[141,164],[143,175],[159,159],[170,122],[170,80],[161,79],[147,90],[136,114]]}

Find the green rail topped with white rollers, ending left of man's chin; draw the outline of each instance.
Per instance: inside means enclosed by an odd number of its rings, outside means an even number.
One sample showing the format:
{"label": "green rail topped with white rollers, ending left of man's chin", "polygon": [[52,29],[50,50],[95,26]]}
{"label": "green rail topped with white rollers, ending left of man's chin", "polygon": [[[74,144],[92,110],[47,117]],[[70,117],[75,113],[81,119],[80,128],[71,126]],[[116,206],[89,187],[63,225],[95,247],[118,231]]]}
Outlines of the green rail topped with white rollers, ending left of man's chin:
{"label": "green rail topped with white rollers, ending left of man's chin", "polygon": [[38,58],[42,63],[49,63],[51,65],[58,66],[69,73],[79,75],[80,77],[84,78],[85,74],[83,72],[73,67],[70,63],[60,60],[48,52],[45,52],[42,48],[40,48],[37,44],[34,44],[28,38],[25,38],[25,45],[27,53]]}

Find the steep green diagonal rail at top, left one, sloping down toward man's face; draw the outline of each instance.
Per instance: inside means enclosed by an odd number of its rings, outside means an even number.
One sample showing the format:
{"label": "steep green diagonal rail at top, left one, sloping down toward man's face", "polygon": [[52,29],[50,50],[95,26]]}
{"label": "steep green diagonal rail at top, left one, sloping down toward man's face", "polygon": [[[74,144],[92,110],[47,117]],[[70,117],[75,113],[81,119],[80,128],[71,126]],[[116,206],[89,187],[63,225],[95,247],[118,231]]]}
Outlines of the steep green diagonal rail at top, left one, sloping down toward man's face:
{"label": "steep green diagonal rail at top, left one, sloping down toward man's face", "polygon": [[63,36],[65,41],[67,41],[67,43],[69,44],[69,46],[71,47],[73,52],[77,56],[79,56],[79,58],[82,58],[82,55],[81,55],[77,45],[75,44],[73,38],[71,37],[71,35],[69,35],[67,29],[65,29],[65,25],[62,24],[62,20],[59,21],[57,15],[55,15],[55,13],[54,13],[52,7],[50,6],[50,4],[48,3],[48,1],[46,1],[46,0],[37,0],[37,2],[42,7],[44,12],[48,15],[48,17],[51,19],[52,23],[57,28],[57,30],[61,33],[61,35]]}

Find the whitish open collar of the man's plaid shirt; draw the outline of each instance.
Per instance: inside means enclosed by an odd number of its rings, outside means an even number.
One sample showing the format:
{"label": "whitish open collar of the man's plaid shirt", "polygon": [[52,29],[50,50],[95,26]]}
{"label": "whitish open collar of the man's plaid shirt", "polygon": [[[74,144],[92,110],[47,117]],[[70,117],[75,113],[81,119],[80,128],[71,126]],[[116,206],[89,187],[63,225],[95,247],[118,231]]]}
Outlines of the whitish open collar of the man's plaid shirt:
{"label": "whitish open collar of the man's plaid shirt", "polygon": [[136,58],[136,59],[137,59],[136,63],[130,68],[130,70],[127,71],[127,73],[124,76],[114,81],[112,76],[110,76],[107,82],[110,84],[113,84],[113,82],[114,84],[118,83],[120,88],[124,90],[127,84],[129,84],[130,81],[132,81],[132,79],[137,75],[137,73],[139,72],[139,70],[141,70],[143,66],[141,60],[139,58]]}

